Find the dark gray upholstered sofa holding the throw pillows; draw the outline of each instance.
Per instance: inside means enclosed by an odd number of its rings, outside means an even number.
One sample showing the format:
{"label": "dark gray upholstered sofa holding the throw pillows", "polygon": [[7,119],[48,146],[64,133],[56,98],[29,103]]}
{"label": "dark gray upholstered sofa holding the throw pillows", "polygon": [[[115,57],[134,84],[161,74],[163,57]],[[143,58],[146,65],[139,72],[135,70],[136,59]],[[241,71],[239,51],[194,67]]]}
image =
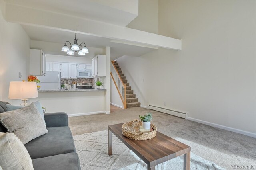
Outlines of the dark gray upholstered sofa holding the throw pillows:
{"label": "dark gray upholstered sofa holding the throw pillows", "polygon": [[[6,111],[8,102],[0,102],[0,113]],[[74,140],[68,127],[66,113],[44,114],[48,133],[25,144],[35,170],[80,170]],[[6,128],[0,123],[0,132]]]}

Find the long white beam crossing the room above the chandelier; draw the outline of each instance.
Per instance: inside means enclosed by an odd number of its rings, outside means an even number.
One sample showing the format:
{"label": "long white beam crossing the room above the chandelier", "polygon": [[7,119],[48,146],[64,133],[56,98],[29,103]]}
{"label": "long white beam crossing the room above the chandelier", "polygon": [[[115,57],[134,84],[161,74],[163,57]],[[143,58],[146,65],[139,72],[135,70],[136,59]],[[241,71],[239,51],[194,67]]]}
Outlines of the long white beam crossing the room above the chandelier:
{"label": "long white beam crossing the room above the chandelier", "polygon": [[181,40],[94,20],[36,10],[6,3],[6,20],[24,25],[48,27],[130,43],[181,50]]}

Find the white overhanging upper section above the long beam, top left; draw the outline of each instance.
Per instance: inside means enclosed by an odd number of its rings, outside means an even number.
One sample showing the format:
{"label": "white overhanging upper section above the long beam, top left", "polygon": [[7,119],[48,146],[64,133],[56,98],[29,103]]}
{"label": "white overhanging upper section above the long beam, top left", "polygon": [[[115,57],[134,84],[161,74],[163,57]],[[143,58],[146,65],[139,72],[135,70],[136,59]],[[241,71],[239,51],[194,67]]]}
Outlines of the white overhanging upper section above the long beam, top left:
{"label": "white overhanging upper section above the long beam, top left", "polygon": [[5,0],[5,2],[122,27],[138,16],[138,0]]}

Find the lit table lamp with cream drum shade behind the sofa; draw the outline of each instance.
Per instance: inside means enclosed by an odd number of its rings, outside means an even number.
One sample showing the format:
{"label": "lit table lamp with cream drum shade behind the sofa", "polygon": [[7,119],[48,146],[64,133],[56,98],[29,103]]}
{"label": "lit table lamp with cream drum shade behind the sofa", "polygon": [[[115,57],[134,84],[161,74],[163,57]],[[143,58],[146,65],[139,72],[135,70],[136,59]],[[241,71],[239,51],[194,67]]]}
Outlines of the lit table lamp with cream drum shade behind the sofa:
{"label": "lit table lamp with cream drum shade behind the sofa", "polygon": [[20,106],[27,106],[28,99],[37,98],[38,92],[36,82],[10,82],[9,99],[21,99]]}

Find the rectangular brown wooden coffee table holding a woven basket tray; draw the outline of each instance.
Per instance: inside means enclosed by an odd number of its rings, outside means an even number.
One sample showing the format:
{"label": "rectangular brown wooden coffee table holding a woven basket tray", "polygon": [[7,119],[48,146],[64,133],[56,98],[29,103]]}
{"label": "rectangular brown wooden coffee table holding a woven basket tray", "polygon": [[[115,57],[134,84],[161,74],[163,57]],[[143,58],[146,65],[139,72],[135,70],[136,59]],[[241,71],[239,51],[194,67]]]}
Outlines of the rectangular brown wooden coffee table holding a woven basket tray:
{"label": "rectangular brown wooden coffee table holding a woven basket tray", "polygon": [[112,155],[112,133],[114,133],[148,165],[148,170],[154,170],[156,165],[180,155],[184,155],[184,170],[190,170],[190,146],[160,132],[157,132],[156,137],[149,140],[132,140],[122,134],[123,124],[108,125],[108,155]]}

